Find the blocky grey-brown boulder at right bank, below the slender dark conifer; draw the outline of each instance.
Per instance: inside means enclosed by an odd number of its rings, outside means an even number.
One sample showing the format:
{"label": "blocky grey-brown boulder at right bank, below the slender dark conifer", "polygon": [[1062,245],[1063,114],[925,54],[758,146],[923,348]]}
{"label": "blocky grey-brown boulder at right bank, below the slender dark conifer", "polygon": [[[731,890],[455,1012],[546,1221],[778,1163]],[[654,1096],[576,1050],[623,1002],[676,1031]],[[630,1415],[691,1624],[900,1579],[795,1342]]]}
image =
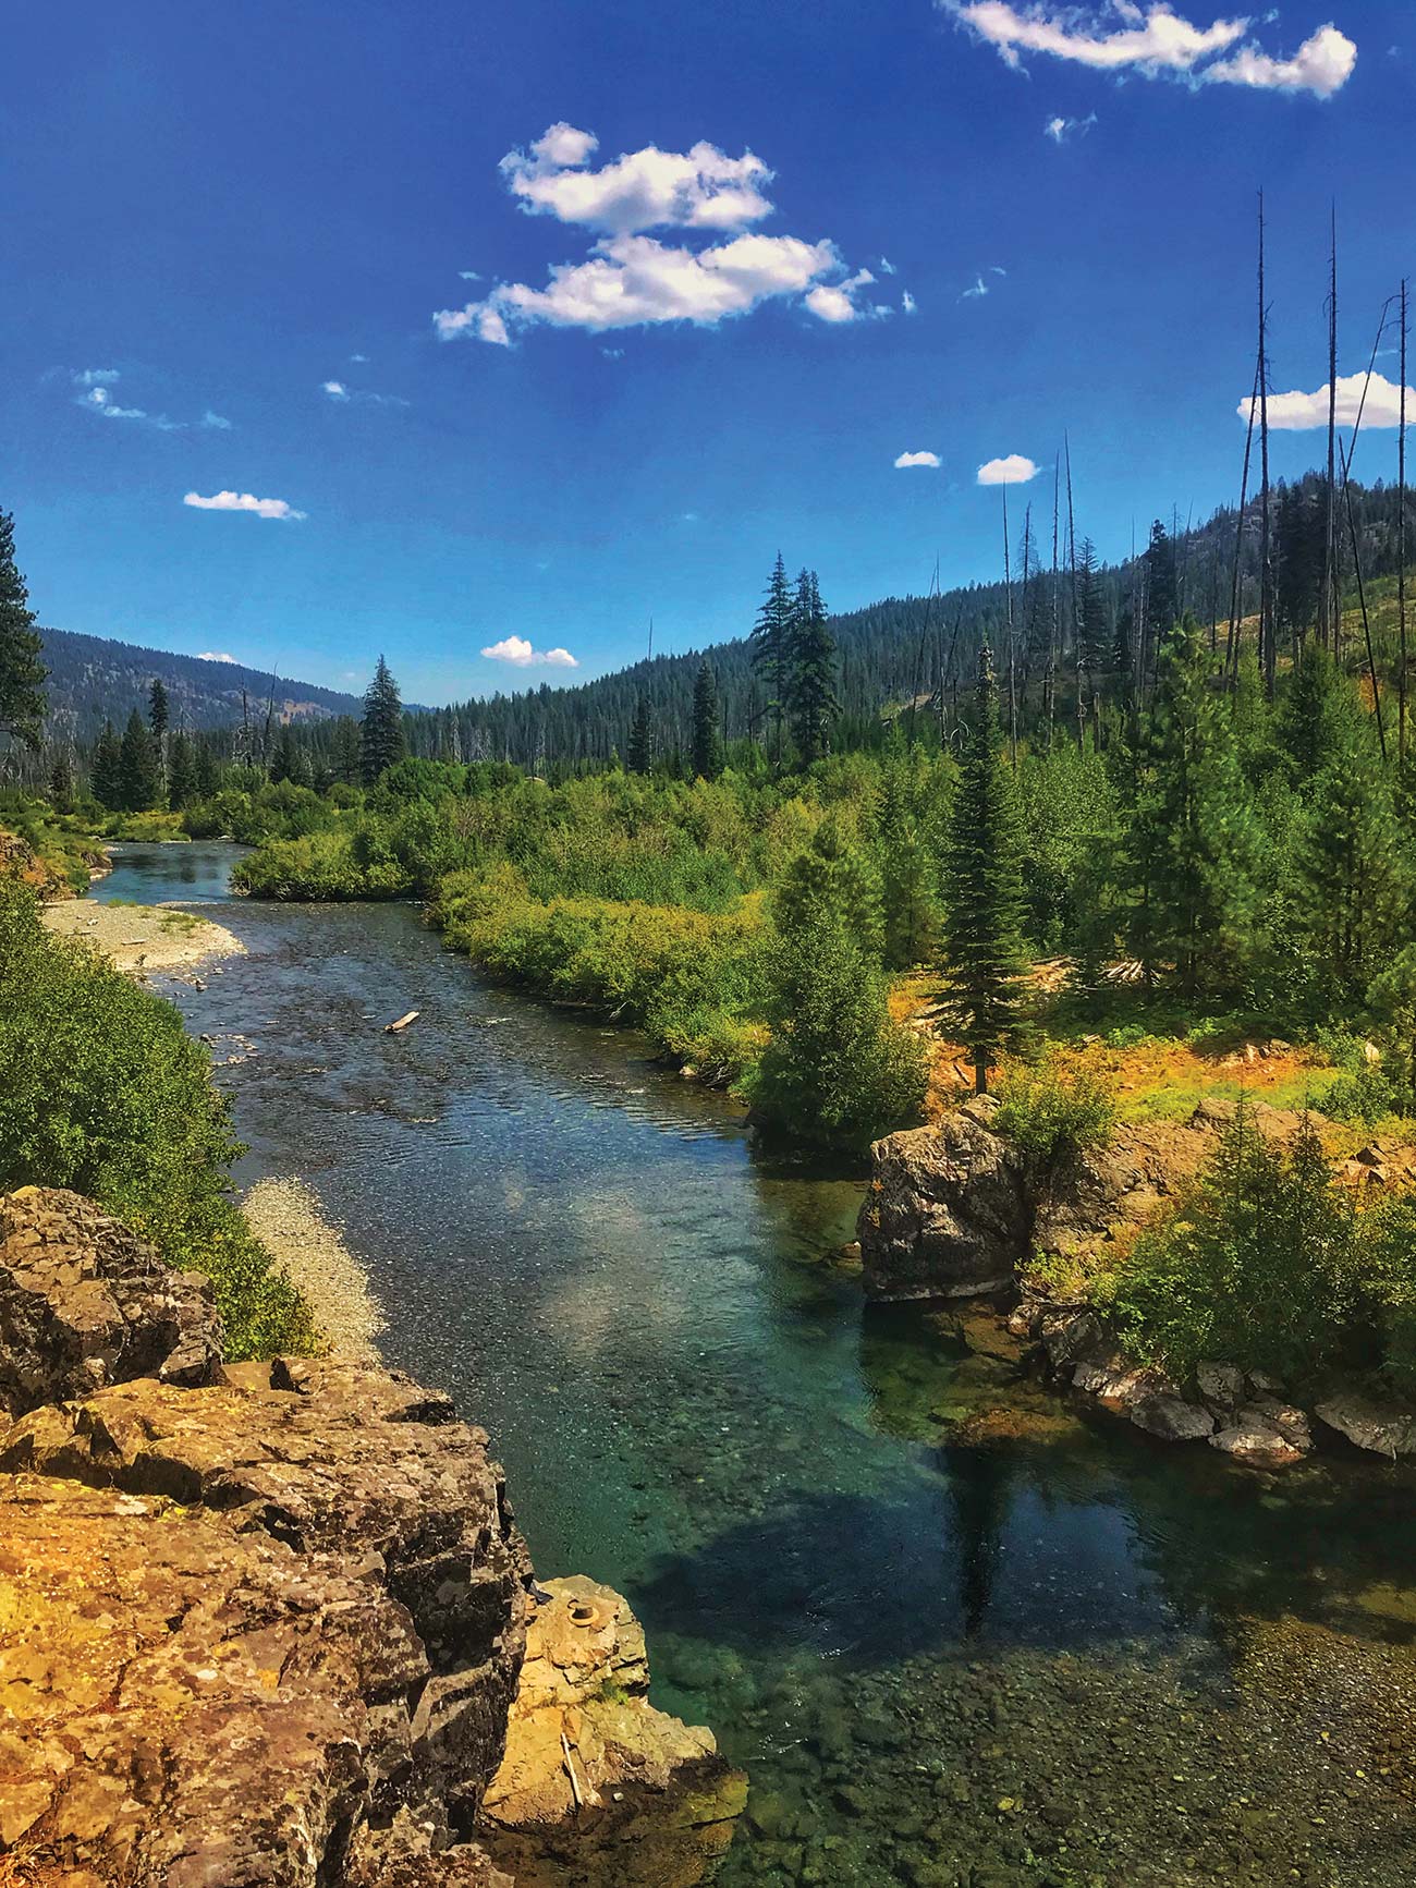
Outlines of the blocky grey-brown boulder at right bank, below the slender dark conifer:
{"label": "blocky grey-brown boulder at right bank, below the slender dark conifer", "polygon": [[859,1220],[870,1297],[970,1297],[1012,1282],[1033,1206],[1020,1154],[989,1125],[995,1108],[980,1097],[938,1127],[885,1135],[870,1148]]}

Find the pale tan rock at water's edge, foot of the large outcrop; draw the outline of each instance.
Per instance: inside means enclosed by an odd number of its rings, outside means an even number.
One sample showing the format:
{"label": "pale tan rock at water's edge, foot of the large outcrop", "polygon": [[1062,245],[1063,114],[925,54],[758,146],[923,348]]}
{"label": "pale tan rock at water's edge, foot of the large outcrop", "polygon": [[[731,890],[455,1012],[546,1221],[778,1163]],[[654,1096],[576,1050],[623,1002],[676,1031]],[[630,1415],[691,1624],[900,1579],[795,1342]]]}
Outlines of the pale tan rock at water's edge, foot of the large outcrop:
{"label": "pale tan rock at water's edge, foot of the large outcrop", "polygon": [[733,1837],[746,1777],[708,1729],[649,1705],[644,1629],[608,1586],[549,1580],[531,1620],[481,1839],[517,1888],[691,1888]]}

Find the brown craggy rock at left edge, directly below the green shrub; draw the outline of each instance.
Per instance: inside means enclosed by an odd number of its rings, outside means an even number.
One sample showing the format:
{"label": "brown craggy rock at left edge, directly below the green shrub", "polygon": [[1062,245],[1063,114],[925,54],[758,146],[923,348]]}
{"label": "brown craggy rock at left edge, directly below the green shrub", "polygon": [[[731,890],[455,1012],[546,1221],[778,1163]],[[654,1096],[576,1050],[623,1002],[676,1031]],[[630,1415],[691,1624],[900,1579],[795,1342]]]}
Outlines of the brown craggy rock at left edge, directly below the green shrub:
{"label": "brown craggy rock at left edge, directly below the green shrub", "polygon": [[219,1357],[206,1278],[174,1273],[79,1193],[0,1199],[0,1416],[134,1376],[202,1384]]}

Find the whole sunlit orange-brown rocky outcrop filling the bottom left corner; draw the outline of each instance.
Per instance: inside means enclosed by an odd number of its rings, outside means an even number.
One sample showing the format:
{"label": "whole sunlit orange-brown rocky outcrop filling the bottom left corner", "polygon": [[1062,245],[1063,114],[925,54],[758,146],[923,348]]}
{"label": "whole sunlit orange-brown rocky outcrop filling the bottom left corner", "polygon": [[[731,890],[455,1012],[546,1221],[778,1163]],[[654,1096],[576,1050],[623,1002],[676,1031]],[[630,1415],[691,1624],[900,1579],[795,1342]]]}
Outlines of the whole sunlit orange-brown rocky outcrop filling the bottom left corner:
{"label": "whole sunlit orange-brown rocky outcrop filling the bottom left corner", "polygon": [[[582,1786],[593,1856],[612,1835],[676,1858],[646,1880],[699,1879],[727,1765],[649,1709],[617,1595],[568,1582],[536,1610],[502,1473],[446,1395],[215,1363],[204,1295],[74,1195],[11,1195],[0,1225],[25,1408],[0,1425],[0,1880],[512,1888],[478,1839],[493,1777],[521,1882],[548,1839],[578,1856]],[[508,1720],[515,1748],[566,1735],[568,1803],[504,1780]],[[598,1865],[578,1879],[632,1879]]]}

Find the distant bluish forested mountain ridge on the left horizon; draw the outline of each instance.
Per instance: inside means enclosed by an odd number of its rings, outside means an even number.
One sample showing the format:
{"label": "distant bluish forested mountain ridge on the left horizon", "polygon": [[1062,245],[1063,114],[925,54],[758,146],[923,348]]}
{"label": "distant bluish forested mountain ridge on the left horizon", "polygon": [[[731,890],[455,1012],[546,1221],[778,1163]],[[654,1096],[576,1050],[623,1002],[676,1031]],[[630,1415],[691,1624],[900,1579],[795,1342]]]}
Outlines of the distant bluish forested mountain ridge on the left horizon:
{"label": "distant bluish forested mountain ridge on the left horizon", "polygon": [[104,721],[123,727],[134,708],[145,710],[155,678],[168,691],[172,727],[185,727],[189,733],[238,723],[242,689],[253,721],[264,721],[268,712],[276,721],[325,721],[362,712],[357,695],[242,668],[240,663],[172,655],[168,649],[79,636],[68,629],[45,629],[42,634],[49,665],[51,725],[79,742],[93,740]]}

